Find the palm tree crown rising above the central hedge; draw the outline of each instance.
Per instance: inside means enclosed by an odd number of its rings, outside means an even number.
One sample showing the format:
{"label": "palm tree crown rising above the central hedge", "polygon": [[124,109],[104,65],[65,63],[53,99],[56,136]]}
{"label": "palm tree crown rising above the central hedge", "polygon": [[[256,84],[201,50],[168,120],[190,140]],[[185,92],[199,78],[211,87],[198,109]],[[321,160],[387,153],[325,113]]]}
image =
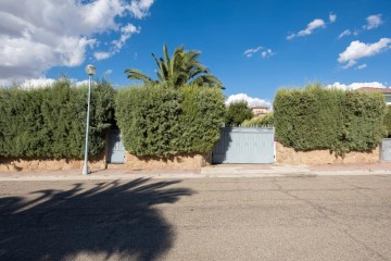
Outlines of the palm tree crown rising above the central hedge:
{"label": "palm tree crown rising above the central hedge", "polygon": [[224,88],[222,82],[198,61],[201,52],[185,51],[184,47],[175,49],[172,58],[168,57],[167,46],[163,46],[164,58],[157,59],[152,53],[159,70],[155,70],[157,80],[144,75],[141,71],[128,69],[125,71],[129,79],[139,79],[146,85],[162,84],[165,87],[179,88],[197,85]]}

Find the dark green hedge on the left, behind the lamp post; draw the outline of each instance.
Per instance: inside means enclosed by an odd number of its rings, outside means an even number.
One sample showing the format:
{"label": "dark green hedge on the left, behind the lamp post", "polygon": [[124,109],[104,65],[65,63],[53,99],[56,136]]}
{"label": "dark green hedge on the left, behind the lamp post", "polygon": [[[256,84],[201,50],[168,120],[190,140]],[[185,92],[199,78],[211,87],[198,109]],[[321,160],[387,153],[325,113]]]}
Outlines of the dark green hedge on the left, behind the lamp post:
{"label": "dark green hedge on the left, behind the lamp post", "polygon": [[[87,116],[86,86],[62,78],[52,87],[0,90],[0,156],[83,158]],[[91,88],[89,154],[104,148],[114,123],[114,89],[106,82]]]}

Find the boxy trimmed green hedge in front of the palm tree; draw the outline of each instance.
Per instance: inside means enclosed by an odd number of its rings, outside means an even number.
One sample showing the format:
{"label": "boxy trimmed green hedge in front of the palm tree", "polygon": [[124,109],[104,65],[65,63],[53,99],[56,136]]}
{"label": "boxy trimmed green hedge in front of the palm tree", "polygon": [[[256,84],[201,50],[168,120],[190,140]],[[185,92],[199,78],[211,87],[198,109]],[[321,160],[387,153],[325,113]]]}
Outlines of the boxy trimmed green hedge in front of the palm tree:
{"label": "boxy trimmed green hedge in front of the palm tree", "polygon": [[124,88],[116,121],[125,148],[136,156],[207,152],[219,139],[224,96],[217,88]]}

